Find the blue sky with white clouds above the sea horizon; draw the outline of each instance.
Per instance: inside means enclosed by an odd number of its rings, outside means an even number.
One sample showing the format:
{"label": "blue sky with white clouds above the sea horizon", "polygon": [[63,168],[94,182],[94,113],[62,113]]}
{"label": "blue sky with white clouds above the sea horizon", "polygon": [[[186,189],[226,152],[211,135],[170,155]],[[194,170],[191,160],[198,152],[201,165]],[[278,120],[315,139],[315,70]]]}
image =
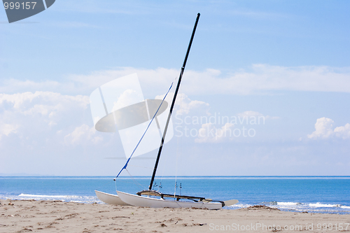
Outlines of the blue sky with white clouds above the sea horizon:
{"label": "blue sky with white clouds above the sea horizon", "polygon": [[[145,98],[165,94],[200,12],[176,114],[265,123],[182,125],[216,134],[174,136],[160,172],[349,176],[349,4],[60,0],[12,24],[0,10],[0,173],[116,175],[120,137],[94,131],[89,95],[131,73]],[[254,136],[221,136],[242,127]]]}

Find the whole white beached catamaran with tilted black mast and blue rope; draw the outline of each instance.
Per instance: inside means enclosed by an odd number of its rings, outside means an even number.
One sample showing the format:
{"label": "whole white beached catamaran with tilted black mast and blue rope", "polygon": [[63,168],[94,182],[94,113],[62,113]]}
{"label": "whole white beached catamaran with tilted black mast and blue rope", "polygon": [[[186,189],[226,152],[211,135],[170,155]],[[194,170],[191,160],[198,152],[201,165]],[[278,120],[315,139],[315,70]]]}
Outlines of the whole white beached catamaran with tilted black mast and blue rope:
{"label": "whole white beached catamaran with tilted black mast and blue rope", "polygon": [[[136,195],[133,195],[133,194],[130,194],[127,192],[121,192],[119,190],[116,190],[118,195],[111,195],[111,194],[106,193],[106,192],[100,192],[100,191],[95,190],[97,197],[100,200],[102,200],[102,202],[105,202],[107,204],[144,206],[144,207],[153,207],[153,208],[169,207],[169,208],[198,208],[198,209],[221,209],[223,206],[231,206],[233,204],[237,204],[238,201],[235,199],[228,200],[228,201],[218,201],[218,200],[213,200],[213,199],[207,199],[205,197],[192,197],[192,196],[186,196],[186,195],[165,194],[165,193],[153,190],[153,182],[155,180],[155,174],[157,172],[158,163],[160,161],[162,147],[165,143],[165,136],[167,134],[169,121],[170,121],[170,118],[172,116],[172,111],[173,111],[174,104],[176,101],[176,96],[179,92],[181,78],[183,76],[183,71],[185,70],[186,62],[188,59],[188,55],[190,53],[190,48],[191,48],[191,45],[193,42],[193,38],[195,36],[195,31],[197,29],[197,24],[198,24],[199,19],[200,19],[200,13],[197,14],[197,19],[195,21],[195,26],[193,27],[192,36],[190,38],[190,43],[188,45],[188,49],[186,52],[186,57],[185,57],[185,60],[183,61],[183,66],[181,67],[179,80],[178,80],[178,83],[176,85],[174,98],[172,99],[172,105],[170,106],[169,115],[167,117],[167,123],[165,125],[165,129],[164,129],[164,132],[162,134],[162,139],[160,141],[160,147],[158,150],[157,158],[155,160],[155,166],[153,169],[151,183],[148,186],[148,190],[142,190],[140,192],[137,192]],[[172,85],[171,85],[171,87],[172,87]],[[169,90],[171,89],[171,87],[169,88]],[[167,94],[169,93],[169,90],[168,90]],[[165,97],[167,97],[167,94],[165,94]],[[157,116],[158,111],[160,110],[160,107],[162,106],[163,102],[165,102],[165,97],[163,98],[162,102],[160,103],[158,110],[153,115],[153,118],[152,118],[151,122],[149,123],[149,125],[151,125],[153,119]],[[149,127],[149,125],[148,125],[148,127]],[[147,127],[147,129],[148,129],[148,127]],[[144,132],[144,135],[146,134],[147,129]],[[141,136],[139,143],[143,139],[144,135]],[[137,146],[139,146],[139,143],[137,144]],[[134,148],[134,151],[137,149],[137,146]],[[120,173],[124,169],[127,168],[127,165],[130,162],[132,155],[134,154],[134,151],[132,152],[130,157],[127,159],[127,162],[125,163],[124,167],[120,170],[120,172],[116,176],[116,178],[118,178]],[[116,181],[116,178],[114,179],[114,181]]]}

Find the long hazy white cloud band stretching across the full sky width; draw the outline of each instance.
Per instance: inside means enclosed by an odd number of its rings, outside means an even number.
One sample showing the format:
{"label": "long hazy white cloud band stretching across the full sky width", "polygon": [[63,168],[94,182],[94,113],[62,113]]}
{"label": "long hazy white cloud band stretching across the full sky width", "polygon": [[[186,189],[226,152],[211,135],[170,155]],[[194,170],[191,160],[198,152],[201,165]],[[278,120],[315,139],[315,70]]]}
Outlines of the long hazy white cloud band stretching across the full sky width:
{"label": "long hazy white cloud band stretching across the full sky width", "polygon": [[[46,80],[3,80],[0,92],[23,90],[56,91],[66,94],[90,94],[92,90],[116,78],[137,73],[145,96],[165,93],[179,76],[179,69],[137,69],[117,67],[88,75],[71,74],[64,82]],[[174,89],[175,89],[174,85]],[[173,89],[173,90],[174,90]],[[329,66],[271,66],[253,64],[250,69],[223,73],[216,69],[186,70],[181,90],[194,94],[269,94],[274,91],[350,92],[350,69]]]}

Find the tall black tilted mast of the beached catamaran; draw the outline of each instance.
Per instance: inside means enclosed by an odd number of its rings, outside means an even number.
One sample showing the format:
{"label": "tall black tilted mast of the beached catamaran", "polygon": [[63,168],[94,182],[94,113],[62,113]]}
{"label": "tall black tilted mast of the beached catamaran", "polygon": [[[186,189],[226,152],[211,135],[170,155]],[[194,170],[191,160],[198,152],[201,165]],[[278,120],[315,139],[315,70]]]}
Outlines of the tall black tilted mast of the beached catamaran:
{"label": "tall black tilted mast of the beached catamaran", "polygon": [[153,181],[154,181],[154,178],[155,178],[155,172],[157,171],[158,162],[159,162],[159,159],[160,159],[160,153],[162,153],[162,148],[163,148],[163,143],[164,143],[164,140],[165,140],[165,135],[167,134],[167,129],[168,129],[170,117],[172,116],[172,111],[173,111],[173,108],[174,108],[174,104],[175,104],[177,92],[179,92],[179,87],[180,87],[180,83],[181,83],[181,78],[182,78],[182,75],[183,75],[183,71],[185,70],[185,66],[186,66],[188,54],[190,53],[190,48],[191,48],[191,45],[192,45],[193,37],[195,37],[195,31],[196,31],[196,29],[197,29],[198,20],[200,20],[200,13],[197,14],[197,19],[196,19],[196,22],[195,22],[195,27],[193,27],[192,36],[191,36],[190,43],[188,44],[188,48],[187,48],[187,52],[186,52],[186,57],[185,57],[185,60],[183,61],[183,65],[182,65],[182,67],[181,67],[181,72],[180,72],[180,76],[179,76],[179,81],[178,81],[177,86],[176,86],[176,90],[175,90],[175,94],[174,94],[174,99],[173,99],[173,101],[172,101],[172,106],[170,106],[170,111],[169,111],[169,115],[168,115],[168,119],[167,119],[167,124],[165,125],[165,129],[164,129],[163,136],[162,136],[162,141],[160,142],[160,147],[159,147],[159,150],[158,150],[157,160],[155,160],[155,165],[154,165],[154,169],[153,169],[153,174],[152,174],[152,178],[151,178],[151,183],[150,183],[150,185],[149,185],[149,187],[148,187],[148,190],[151,190],[151,189],[152,189],[152,186],[153,186]]}

